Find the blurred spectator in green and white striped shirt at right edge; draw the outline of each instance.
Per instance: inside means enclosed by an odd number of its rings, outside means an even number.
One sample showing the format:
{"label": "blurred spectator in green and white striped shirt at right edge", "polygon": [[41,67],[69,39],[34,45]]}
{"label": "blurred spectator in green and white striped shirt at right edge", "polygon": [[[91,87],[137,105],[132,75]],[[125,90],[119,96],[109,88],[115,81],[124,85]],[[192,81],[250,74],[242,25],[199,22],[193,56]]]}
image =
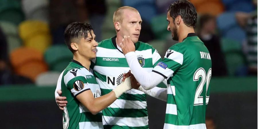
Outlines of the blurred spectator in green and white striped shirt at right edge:
{"label": "blurred spectator in green and white striped shirt at right edge", "polygon": [[253,1],[256,10],[252,13],[236,13],[236,20],[245,29],[247,39],[243,43],[250,75],[257,75],[257,0]]}

